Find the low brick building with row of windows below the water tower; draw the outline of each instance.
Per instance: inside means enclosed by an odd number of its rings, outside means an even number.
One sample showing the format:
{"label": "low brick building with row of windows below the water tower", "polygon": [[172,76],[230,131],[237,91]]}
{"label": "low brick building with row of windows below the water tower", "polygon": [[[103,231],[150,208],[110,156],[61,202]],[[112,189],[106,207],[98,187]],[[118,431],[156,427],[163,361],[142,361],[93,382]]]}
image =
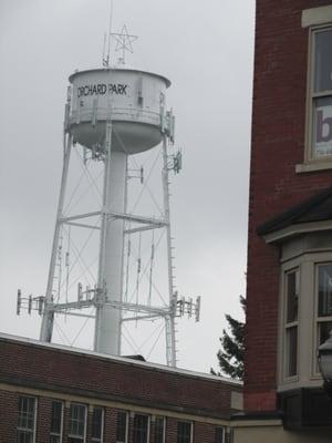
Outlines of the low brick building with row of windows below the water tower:
{"label": "low brick building with row of windows below the water tower", "polygon": [[1,443],[227,443],[241,383],[0,334]]}

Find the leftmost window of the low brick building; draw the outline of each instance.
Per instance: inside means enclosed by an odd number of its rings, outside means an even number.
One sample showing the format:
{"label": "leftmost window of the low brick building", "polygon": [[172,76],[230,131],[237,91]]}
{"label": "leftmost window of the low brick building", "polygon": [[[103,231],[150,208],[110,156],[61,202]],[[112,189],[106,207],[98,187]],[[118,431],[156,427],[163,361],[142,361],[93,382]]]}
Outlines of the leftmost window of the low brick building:
{"label": "leftmost window of the low brick building", "polygon": [[19,398],[18,443],[35,442],[37,399]]}

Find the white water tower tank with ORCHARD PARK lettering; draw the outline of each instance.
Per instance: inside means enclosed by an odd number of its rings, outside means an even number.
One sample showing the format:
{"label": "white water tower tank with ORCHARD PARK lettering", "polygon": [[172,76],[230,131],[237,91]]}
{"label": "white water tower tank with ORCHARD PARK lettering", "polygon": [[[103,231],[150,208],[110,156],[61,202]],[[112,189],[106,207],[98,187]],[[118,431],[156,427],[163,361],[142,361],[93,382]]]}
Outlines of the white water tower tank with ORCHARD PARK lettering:
{"label": "white water tower tank with ORCHARD PARK lettering", "polygon": [[74,141],[100,150],[105,124],[112,119],[112,150],[136,154],[162,140],[160,109],[169,80],[129,69],[95,69],[75,72],[69,130]]}

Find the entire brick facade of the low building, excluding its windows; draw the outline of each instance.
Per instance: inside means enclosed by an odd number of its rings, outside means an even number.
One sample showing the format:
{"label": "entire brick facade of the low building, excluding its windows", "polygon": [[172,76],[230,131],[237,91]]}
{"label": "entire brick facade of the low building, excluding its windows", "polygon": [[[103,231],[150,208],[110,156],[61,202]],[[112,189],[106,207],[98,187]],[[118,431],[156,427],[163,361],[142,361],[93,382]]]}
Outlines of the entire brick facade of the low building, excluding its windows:
{"label": "entire brick facade of the low building, excluding its windows", "polygon": [[[139,408],[141,413],[147,413],[148,409],[158,415],[168,413],[167,443],[176,443],[178,420],[195,422],[195,443],[214,443],[216,424],[210,422],[228,420],[230,392],[241,391],[239,384],[215,380],[208,374],[185,374],[8,337],[0,337],[0,443],[17,441],[19,396],[27,394],[38,399],[35,443],[49,441],[52,396],[65,404],[63,443],[68,442],[71,396],[90,406],[103,404],[108,443],[115,443],[118,408],[129,412],[128,443],[133,441],[133,409],[137,412]],[[110,403],[116,406],[108,406]],[[90,409],[87,442],[91,442],[91,426]],[[152,421],[151,442],[154,432]]]}

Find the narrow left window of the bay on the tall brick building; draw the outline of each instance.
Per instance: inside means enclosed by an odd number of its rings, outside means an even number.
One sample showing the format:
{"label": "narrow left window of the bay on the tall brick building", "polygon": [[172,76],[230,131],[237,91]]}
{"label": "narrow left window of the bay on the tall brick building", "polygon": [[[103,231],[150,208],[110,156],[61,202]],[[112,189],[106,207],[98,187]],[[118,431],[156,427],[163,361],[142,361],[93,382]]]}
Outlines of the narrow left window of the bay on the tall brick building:
{"label": "narrow left window of the bay on the tall brick building", "polygon": [[284,377],[298,373],[300,271],[292,269],[284,278]]}

